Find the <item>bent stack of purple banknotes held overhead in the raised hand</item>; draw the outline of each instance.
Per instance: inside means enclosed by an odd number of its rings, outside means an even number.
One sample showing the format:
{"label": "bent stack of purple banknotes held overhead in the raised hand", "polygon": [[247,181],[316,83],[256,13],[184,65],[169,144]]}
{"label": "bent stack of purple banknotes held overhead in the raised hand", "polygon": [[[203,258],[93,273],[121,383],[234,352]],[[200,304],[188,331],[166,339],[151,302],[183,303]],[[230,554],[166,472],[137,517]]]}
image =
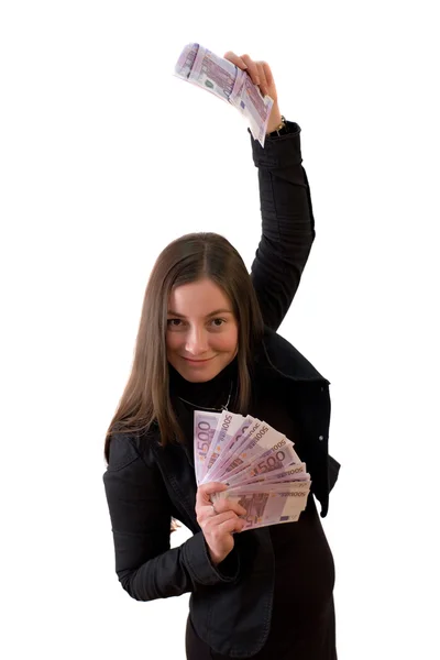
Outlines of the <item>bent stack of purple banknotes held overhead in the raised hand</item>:
{"label": "bent stack of purple banknotes held overhead in the raised hand", "polygon": [[258,140],[264,147],[274,101],[270,96],[262,96],[245,72],[200,44],[188,44],[178,58],[174,75],[207,89],[237,108],[246,119],[254,140]]}

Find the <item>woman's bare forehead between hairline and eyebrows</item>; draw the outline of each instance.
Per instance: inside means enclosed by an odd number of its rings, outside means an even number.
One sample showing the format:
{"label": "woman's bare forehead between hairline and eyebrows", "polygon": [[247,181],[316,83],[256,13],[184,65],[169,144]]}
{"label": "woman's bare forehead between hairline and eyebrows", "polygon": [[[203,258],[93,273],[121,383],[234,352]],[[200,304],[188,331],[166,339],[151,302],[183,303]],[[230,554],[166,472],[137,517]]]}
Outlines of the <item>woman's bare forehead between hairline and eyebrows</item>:
{"label": "woman's bare forehead between hairline and eyebrows", "polygon": [[216,309],[232,311],[232,305],[211,279],[199,279],[175,287],[168,299],[168,309],[185,316],[208,316]]}

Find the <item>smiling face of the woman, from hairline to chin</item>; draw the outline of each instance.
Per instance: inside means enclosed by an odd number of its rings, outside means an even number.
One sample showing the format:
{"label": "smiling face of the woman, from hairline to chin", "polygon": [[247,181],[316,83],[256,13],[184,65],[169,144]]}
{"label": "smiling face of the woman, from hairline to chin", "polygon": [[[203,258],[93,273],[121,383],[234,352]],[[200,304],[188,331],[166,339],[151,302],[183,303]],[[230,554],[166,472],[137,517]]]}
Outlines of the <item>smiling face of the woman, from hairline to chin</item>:
{"label": "smiling face of the woman, from hairline to chin", "polygon": [[219,374],[235,356],[239,326],[232,305],[211,279],[176,287],[168,300],[168,362],[191,383]]}

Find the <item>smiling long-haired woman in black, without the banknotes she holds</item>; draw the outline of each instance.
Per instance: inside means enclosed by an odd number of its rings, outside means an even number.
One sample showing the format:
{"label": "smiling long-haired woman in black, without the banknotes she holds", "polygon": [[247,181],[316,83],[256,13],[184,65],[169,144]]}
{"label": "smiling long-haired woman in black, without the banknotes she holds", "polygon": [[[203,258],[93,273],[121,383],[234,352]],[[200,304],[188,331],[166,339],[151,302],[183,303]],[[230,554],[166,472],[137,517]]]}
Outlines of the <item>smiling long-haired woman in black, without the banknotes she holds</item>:
{"label": "smiling long-haired woman in black, without the banknotes she holds", "polygon": [[[334,660],[334,566],[311,494],[297,522],[240,534],[244,509],[210,501],[226,486],[196,485],[196,409],[227,407],[285,433],[322,517],[339,470],[328,454],[329,382],[276,333],[315,238],[300,129],[282,121],[265,63],[226,56],[275,99],[264,150],[251,136],[262,238],[251,275],[213,233],[177,239],[155,263],[106,440],[116,570],[139,601],[191,593],[190,660]],[[172,519],[194,535],[174,549]]]}

